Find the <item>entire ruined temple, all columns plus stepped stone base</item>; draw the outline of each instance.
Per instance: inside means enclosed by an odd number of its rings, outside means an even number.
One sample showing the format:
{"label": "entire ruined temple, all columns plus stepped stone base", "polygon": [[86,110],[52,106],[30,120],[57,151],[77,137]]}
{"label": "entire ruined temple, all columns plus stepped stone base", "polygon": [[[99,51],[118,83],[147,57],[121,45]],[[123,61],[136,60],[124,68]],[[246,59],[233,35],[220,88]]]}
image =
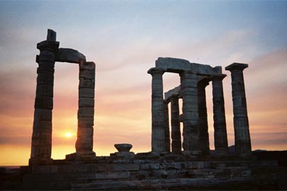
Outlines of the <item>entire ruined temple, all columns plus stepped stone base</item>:
{"label": "entire ruined temple, all columns plus stepped stone base", "polygon": [[[223,97],[226,74],[221,66],[161,57],[148,71],[152,75],[152,151],[134,154],[130,151],[131,144],[116,144],[118,152],[96,156],[93,151],[96,66],[94,62],[86,62],[86,57],[77,50],[59,48],[59,44],[56,33],[48,30],[47,40],[37,45],[40,55],[36,57],[39,66],[32,146],[29,166],[21,167],[21,190],[226,190],[230,187],[260,190],[261,185],[276,183],[274,171],[266,171],[276,167],[276,161],[252,158],[242,73],[247,64],[233,63],[225,68],[231,71],[232,77],[237,156],[227,154]],[[79,64],[76,152],[62,160],[51,158],[55,62]],[[162,76],[166,72],[179,74],[181,84],[164,93]],[[206,109],[209,83],[213,87],[215,156],[210,155],[209,148]],[[183,103],[182,115],[179,115],[179,99]]]}

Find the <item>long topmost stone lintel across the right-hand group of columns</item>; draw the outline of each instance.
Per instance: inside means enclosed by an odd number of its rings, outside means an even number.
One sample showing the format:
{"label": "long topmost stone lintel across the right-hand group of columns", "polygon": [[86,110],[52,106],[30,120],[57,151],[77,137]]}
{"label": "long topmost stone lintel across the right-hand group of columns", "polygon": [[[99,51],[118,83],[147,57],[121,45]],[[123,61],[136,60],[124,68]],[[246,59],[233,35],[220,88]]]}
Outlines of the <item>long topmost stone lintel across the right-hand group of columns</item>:
{"label": "long topmost stone lintel across the right-hand group of columns", "polygon": [[219,74],[218,67],[213,68],[207,64],[198,64],[188,62],[186,59],[176,59],[169,57],[159,57],[155,62],[155,66],[166,69],[169,72],[181,73],[182,71],[193,71],[194,74],[212,75]]}

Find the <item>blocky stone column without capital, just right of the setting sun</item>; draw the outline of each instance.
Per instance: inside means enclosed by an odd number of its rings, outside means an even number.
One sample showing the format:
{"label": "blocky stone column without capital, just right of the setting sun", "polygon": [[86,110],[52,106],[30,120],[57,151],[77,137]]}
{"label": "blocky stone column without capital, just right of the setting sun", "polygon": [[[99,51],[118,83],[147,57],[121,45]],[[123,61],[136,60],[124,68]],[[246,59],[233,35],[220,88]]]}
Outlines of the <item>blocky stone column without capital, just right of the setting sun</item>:
{"label": "blocky stone column without capital, just right of the setting sun", "polygon": [[79,63],[79,110],[78,132],[76,141],[76,158],[91,159],[94,137],[94,96],[95,96],[94,62]]}

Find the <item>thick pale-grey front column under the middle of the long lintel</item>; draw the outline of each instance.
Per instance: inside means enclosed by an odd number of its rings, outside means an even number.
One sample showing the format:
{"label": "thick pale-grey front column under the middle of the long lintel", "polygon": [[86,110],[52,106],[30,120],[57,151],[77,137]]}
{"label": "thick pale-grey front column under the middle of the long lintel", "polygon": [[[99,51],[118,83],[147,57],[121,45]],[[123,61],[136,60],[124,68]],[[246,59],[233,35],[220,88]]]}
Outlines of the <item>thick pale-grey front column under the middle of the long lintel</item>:
{"label": "thick pale-grey front column under the middle of the long lintel", "polygon": [[184,115],[184,154],[196,157],[201,154],[199,149],[198,129],[198,76],[189,71],[182,72],[180,76],[183,104],[182,110]]}

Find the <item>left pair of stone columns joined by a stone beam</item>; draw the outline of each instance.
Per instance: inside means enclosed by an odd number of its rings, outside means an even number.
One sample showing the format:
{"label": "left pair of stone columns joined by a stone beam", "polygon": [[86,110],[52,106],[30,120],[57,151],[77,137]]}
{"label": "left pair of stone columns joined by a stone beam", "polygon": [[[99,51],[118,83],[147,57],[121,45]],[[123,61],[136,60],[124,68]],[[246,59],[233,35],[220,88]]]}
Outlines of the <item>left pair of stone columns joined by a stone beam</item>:
{"label": "left pair of stone columns joined by a stone beam", "polygon": [[[77,50],[59,48],[56,33],[47,31],[47,40],[37,45],[37,88],[35,96],[35,112],[31,156],[29,163],[52,163],[52,109],[55,62],[79,64],[79,110],[76,153],[72,156],[79,159],[93,159],[94,135],[94,94],[95,69],[94,62],[86,62],[86,57]],[[71,156],[69,156],[71,157]]]}

